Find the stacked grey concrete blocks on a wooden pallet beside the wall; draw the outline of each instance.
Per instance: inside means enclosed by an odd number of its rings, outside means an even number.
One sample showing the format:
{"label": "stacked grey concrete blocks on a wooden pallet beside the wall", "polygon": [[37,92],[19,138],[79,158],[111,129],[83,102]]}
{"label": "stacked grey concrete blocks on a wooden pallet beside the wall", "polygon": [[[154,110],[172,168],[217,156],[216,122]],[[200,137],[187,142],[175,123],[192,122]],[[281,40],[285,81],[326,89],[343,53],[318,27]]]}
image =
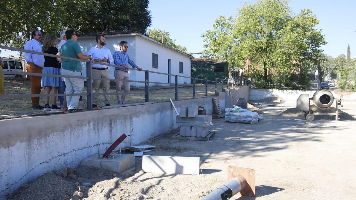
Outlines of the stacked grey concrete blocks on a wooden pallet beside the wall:
{"label": "stacked grey concrete blocks on a wooden pallet beside the wall", "polygon": [[180,126],[180,136],[204,137],[213,119],[211,115],[198,115],[198,106],[185,106],[179,110],[176,125]]}

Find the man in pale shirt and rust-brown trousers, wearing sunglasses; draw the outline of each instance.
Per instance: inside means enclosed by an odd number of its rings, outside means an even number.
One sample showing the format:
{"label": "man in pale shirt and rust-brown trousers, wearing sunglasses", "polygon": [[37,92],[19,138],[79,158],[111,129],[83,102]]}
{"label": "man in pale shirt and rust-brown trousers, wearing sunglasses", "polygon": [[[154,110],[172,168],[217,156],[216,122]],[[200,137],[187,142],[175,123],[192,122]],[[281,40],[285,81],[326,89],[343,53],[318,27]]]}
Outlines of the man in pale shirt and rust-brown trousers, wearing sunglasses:
{"label": "man in pale shirt and rust-brown trousers, wearing sunglasses", "polygon": [[[26,50],[30,51],[42,51],[42,44],[40,41],[42,40],[42,34],[40,31],[36,30],[32,32],[32,40],[29,40],[25,43]],[[23,57],[26,60],[26,69],[29,73],[42,73],[43,63],[45,62],[45,57],[39,54],[33,53],[23,53]],[[31,94],[40,94],[41,93],[41,76],[30,76],[32,87],[31,87]],[[35,96],[31,97],[32,100],[32,108],[33,109],[43,109],[40,106],[40,97]]]}

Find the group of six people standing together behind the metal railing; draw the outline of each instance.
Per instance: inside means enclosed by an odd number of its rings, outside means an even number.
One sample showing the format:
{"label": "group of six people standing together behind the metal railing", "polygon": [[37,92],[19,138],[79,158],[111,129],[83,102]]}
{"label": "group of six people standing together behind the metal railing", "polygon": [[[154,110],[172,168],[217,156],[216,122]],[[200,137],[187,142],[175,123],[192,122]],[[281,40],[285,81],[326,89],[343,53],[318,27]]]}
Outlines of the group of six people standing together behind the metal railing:
{"label": "group of six people standing together behind the metal railing", "polygon": [[[25,49],[36,52],[43,52],[48,54],[54,54],[57,56],[64,56],[69,58],[77,58],[83,60],[90,60],[93,64],[91,77],[93,79],[92,83],[92,96],[93,96],[93,108],[98,107],[99,99],[99,86],[100,78],[110,78],[109,68],[107,65],[100,63],[108,63],[117,65],[114,70],[114,77],[116,79],[116,98],[119,105],[126,104],[125,98],[130,91],[130,80],[129,67],[137,68],[135,62],[127,54],[127,48],[129,47],[126,41],[120,42],[120,50],[116,51],[112,56],[110,50],[105,48],[105,36],[96,36],[96,46],[92,47],[88,55],[84,55],[82,49],[77,43],[78,36],[74,30],[61,31],[60,39],[56,35],[46,35],[43,38],[43,43],[41,43],[43,35],[40,31],[36,30],[32,32],[32,40],[29,40],[25,44]],[[57,48],[58,47],[58,48]],[[70,75],[70,76],[81,76],[82,67],[80,61],[61,59],[50,56],[42,56],[40,54],[33,54],[24,52],[23,56],[26,61],[26,69],[29,73],[43,73],[43,74],[53,74],[53,75]],[[77,111],[80,98],[80,93],[82,93],[84,88],[84,79],[81,78],[61,78],[61,77],[49,77],[49,76],[35,76],[30,75],[32,87],[31,94],[40,94],[41,89],[46,87],[45,94],[78,94],[78,95],[63,95],[58,96],[59,103],[61,107],[57,105],[56,96],[52,96],[51,105],[49,105],[49,96],[45,97],[45,106],[40,105],[40,97],[32,97],[32,108],[33,109],[43,109],[50,111],[66,110],[68,112]],[[87,83],[89,84],[89,83]],[[124,92],[121,93],[121,86],[124,84]],[[104,93],[110,93],[110,81],[101,80],[101,85]],[[105,106],[110,106],[110,95],[105,95],[104,100]]]}

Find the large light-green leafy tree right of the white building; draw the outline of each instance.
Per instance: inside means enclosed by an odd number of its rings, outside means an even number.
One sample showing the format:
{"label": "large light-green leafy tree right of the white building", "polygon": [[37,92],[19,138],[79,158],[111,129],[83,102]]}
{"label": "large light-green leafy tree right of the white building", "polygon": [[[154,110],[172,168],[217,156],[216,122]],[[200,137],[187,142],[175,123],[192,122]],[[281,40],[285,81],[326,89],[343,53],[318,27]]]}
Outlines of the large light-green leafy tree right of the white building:
{"label": "large light-green leafy tree right of the white building", "polygon": [[208,30],[203,35],[207,51],[230,50],[233,53],[228,56],[234,56],[232,63],[241,69],[249,59],[255,84],[288,82],[298,71],[307,81],[310,70],[304,63],[317,65],[319,48],[326,42],[321,31],[315,28],[319,21],[312,11],[304,9],[292,15],[288,2],[260,0],[247,4],[239,9],[234,21],[220,16],[215,21],[214,31]]}

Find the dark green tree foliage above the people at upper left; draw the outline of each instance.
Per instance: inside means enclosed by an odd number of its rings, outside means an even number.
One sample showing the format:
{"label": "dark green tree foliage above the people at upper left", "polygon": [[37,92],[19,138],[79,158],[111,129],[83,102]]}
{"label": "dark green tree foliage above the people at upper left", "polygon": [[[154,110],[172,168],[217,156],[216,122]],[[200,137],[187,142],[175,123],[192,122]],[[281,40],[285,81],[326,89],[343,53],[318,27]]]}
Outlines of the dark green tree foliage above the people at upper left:
{"label": "dark green tree foliage above the people at upper left", "polygon": [[135,30],[151,25],[149,0],[0,0],[0,44],[17,48],[39,29],[59,34],[64,29],[77,33]]}

